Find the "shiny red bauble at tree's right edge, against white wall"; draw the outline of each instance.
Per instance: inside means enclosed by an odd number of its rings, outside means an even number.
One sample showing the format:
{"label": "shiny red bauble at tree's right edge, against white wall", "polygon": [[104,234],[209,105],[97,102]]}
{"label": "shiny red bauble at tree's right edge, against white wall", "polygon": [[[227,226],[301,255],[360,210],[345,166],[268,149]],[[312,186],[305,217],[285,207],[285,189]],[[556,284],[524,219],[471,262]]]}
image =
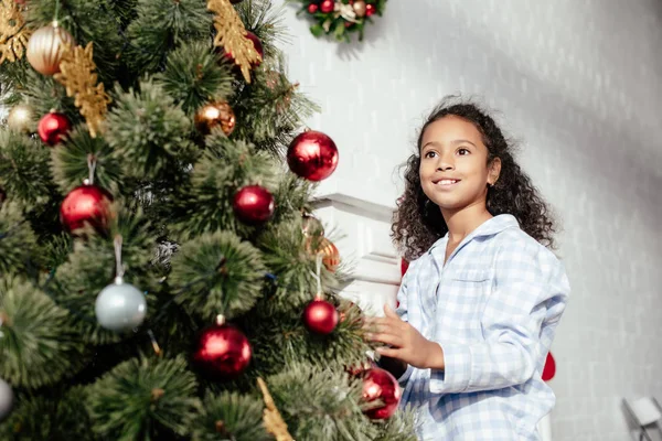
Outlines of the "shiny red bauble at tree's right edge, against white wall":
{"label": "shiny red bauble at tree's right edge, against white wall", "polygon": [[338,148],[321,131],[308,130],[292,139],[287,150],[287,163],[297,175],[321,181],[338,166]]}

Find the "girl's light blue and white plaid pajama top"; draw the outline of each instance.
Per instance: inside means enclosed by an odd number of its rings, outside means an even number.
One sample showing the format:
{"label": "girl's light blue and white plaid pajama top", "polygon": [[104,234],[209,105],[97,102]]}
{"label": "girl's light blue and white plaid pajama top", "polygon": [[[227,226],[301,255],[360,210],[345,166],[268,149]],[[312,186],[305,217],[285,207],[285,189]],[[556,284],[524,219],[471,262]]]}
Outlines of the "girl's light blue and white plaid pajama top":
{"label": "girl's light blue and white plaid pajama top", "polygon": [[409,366],[402,405],[420,440],[538,440],[554,407],[541,379],[569,284],[558,259],[511,215],[495,216],[444,258],[448,235],[413,261],[397,312],[444,348],[446,369]]}

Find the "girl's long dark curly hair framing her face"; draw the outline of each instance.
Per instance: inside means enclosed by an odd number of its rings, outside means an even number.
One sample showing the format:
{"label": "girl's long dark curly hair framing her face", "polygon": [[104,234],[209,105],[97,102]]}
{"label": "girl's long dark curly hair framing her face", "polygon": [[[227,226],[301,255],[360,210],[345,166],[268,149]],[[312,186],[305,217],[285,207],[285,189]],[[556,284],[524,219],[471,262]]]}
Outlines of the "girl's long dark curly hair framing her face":
{"label": "girl's long dark curly hair framing her face", "polygon": [[488,164],[494,158],[501,159],[499,180],[488,190],[487,207],[490,214],[513,215],[525,233],[554,249],[556,222],[531,179],[515,162],[514,142],[503,136],[494,119],[480,105],[458,96],[449,96],[433,109],[418,133],[417,152],[402,165],[405,169],[405,193],[397,201],[397,211],[391,226],[391,237],[401,254],[412,261],[448,232],[441,211],[430,209],[430,206],[436,206],[423,192],[418,169],[425,130],[430,123],[449,115],[472,122],[481,132],[488,148]]}

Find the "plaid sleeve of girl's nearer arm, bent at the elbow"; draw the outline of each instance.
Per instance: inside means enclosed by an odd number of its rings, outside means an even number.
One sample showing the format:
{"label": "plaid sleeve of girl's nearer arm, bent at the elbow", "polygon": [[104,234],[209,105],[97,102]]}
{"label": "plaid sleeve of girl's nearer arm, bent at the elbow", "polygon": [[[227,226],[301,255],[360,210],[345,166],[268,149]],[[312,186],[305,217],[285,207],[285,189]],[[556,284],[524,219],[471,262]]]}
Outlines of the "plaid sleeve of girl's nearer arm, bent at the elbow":
{"label": "plaid sleeve of girl's nearer arm, bent at the elbow", "polygon": [[537,244],[514,241],[496,256],[494,283],[481,321],[483,341],[435,342],[442,348],[444,369],[430,366],[431,392],[523,384],[546,355],[541,352],[552,344],[569,293],[560,262]]}

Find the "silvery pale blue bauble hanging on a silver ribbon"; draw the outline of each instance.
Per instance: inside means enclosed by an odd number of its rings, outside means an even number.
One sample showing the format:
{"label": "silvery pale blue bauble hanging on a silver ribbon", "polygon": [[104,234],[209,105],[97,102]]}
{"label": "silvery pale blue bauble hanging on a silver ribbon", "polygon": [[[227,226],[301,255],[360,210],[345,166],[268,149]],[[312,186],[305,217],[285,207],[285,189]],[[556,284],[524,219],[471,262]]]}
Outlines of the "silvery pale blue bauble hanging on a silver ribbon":
{"label": "silvery pale blue bauble hanging on a silver ribbon", "polygon": [[145,320],[145,294],[118,277],[97,295],[95,313],[103,327],[115,332],[130,331]]}

